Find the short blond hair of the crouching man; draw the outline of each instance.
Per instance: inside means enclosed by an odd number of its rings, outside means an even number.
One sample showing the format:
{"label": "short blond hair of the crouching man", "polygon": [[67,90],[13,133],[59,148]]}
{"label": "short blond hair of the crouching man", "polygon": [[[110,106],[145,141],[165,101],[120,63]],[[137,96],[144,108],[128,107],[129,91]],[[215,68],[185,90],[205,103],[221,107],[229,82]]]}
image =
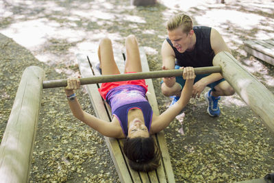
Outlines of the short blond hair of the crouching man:
{"label": "short blond hair of the crouching man", "polygon": [[175,16],[172,16],[171,19],[169,19],[169,21],[166,23],[166,29],[169,31],[177,29],[178,27],[182,27],[182,31],[188,34],[188,32],[193,29],[192,19],[190,16],[184,13],[179,13]]}

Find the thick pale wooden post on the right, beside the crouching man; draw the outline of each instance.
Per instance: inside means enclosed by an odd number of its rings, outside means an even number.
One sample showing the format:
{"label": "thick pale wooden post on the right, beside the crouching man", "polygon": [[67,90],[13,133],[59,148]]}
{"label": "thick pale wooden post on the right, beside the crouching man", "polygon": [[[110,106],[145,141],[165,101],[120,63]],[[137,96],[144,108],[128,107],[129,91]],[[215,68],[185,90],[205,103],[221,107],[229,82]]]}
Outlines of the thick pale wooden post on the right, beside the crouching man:
{"label": "thick pale wooden post on the right, beside the crouching man", "polygon": [[240,62],[227,51],[222,51],[213,59],[214,66],[221,66],[222,75],[234,88],[247,106],[274,132],[274,95],[256,77],[245,70]]}

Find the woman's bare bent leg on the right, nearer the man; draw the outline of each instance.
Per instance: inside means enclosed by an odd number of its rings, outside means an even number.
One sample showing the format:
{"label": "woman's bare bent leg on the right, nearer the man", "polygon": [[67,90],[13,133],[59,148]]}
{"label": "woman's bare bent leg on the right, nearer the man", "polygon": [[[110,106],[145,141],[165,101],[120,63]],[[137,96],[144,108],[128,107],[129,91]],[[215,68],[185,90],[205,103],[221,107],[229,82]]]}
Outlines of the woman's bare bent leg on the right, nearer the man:
{"label": "woman's bare bent leg on the right, nearer the man", "polygon": [[138,42],[134,35],[129,35],[125,39],[125,49],[127,50],[125,72],[142,72]]}

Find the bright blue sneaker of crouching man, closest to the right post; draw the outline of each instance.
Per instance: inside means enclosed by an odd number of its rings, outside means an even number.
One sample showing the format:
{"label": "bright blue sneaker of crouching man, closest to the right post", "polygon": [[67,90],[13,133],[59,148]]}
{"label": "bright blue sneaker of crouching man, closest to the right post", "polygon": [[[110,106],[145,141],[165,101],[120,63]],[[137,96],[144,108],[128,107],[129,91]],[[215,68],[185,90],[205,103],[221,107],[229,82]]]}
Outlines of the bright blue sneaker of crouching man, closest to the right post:
{"label": "bright blue sneaker of crouching man, closest to the right post", "polygon": [[220,97],[213,97],[210,95],[211,90],[208,91],[208,93],[205,93],[205,99],[208,102],[208,114],[210,114],[211,117],[218,117],[221,113],[220,108],[218,106],[218,101]]}

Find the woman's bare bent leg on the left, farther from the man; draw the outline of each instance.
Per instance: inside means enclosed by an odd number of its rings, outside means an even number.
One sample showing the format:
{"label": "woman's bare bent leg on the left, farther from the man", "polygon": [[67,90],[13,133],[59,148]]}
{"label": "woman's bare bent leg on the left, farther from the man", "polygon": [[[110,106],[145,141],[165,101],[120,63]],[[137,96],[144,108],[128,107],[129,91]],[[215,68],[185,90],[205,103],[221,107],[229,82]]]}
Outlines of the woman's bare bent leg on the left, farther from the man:
{"label": "woman's bare bent leg on the left, farther from the man", "polygon": [[120,71],[113,56],[110,38],[103,38],[98,48],[98,57],[101,64],[102,75],[119,74]]}

